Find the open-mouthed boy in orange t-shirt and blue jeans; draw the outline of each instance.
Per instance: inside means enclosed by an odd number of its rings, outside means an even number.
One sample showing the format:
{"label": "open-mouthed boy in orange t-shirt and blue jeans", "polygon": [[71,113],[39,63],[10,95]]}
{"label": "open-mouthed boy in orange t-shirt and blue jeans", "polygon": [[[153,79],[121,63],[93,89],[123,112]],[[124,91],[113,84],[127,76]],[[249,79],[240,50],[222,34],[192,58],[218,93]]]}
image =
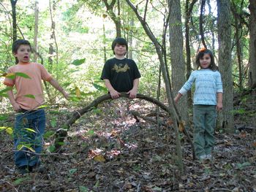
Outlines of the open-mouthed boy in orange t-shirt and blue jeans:
{"label": "open-mouthed boy in orange t-shirt and blue jeans", "polygon": [[[18,58],[18,64],[8,69],[4,85],[15,86],[17,91],[15,96],[12,89],[7,94],[13,110],[18,112],[15,115],[14,128],[15,165],[21,174],[25,174],[41,164],[39,153],[42,151],[42,137],[45,132],[45,110],[39,109],[44,103],[42,80],[50,82],[66,99],[69,94],[50,76],[44,66],[29,61],[29,41],[16,40],[12,45],[12,53]],[[28,128],[34,131],[29,131]]]}

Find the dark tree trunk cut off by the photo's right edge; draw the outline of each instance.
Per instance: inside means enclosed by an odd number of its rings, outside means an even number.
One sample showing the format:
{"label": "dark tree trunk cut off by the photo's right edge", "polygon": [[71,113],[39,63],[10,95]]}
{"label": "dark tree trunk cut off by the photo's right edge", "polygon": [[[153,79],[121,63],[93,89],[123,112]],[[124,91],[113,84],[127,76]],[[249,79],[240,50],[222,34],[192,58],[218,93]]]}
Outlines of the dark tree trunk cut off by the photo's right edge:
{"label": "dark tree trunk cut off by the photo's right edge", "polygon": [[[256,1],[249,1],[249,88],[256,88]],[[256,91],[254,91],[256,94]]]}

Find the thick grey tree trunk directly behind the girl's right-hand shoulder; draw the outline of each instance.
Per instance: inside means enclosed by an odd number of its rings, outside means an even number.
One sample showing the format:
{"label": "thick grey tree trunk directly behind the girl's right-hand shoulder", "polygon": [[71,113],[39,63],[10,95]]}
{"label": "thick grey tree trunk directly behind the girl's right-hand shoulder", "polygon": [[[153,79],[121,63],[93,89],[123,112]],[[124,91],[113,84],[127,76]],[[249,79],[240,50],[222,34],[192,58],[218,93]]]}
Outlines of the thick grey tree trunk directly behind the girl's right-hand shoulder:
{"label": "thick grey tree trunk directly behind the girl's right-hand shoulder", "polygon": [[219,115],[219,123],[225,131],[234,131],[233,120],[233,78],[231,58],[231,11],[230,0],[217,0],[218,6],[218,42],[219,71],[223,83],[223,110]]}

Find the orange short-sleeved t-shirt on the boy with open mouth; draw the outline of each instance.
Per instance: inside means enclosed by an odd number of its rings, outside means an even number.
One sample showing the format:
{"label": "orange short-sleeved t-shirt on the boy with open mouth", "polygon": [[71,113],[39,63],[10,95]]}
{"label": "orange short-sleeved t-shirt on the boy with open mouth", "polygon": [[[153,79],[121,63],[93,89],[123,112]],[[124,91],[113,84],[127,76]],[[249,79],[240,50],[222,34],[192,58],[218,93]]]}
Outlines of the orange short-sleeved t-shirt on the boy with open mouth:
{"label": "orange short-sleeved t-shirt on the boy with open mouth", "polygon": [[[37,107],[44,103],[42,91],[42,80],[50,81],[52,77],[41,64],[36,63],[18,63],[8,69],[8,74],[21,72],[30,78],[15,75],[14,79],[5,77],[4,85],[14,86],[17,90],[15,101],[20,104],[24,110],[37,110]],[[32,95],[31,98],[28,95]]]}

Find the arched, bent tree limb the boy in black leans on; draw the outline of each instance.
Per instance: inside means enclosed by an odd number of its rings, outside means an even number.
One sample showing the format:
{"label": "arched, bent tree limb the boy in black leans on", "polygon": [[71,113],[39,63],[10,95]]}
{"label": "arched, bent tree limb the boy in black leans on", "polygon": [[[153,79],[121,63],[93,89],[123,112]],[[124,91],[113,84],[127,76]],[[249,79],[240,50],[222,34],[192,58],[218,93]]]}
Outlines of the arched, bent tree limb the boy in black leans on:
{"label": "arched, bent tree limb the boy in black leans on", "polygon": [[[129,95],[127,95],[127,93],[121,93],[120,97],[122,97],[122,98],[129,98]],[[149,101],[149,102],[151,102],[153,104],[156,104],[162,110],[165,110],[165,112],[167,112],[170,115],[170,110],[161,101],[158,101],[157,99],[154,99],[151,96],[145,96],[145,95],[140,94],[140,93],[137,94],[136,98],[137,99],[143,99],[143,100]],[[76,120],[78,120],[78,118],[80,118],[86,112],[94,110],[103,101],[108,101],[110,99],[112,99],[110,94],[105,94],[103,96],[99,96],[97,99],[92,101],[91,104],[87,105],[86,107],[83,107],[80,110],[77,110],[77,111],[73,112],[72,113],[72,117],[67,121],[67,123],[64,124],[63,128],[60,128],[58,131],[56,131],[56,134],[55,134],[56,139],[55,139],[55,142],[53,144],[54,148],[55,148],[55,151],[59,151],[60,150],[61,143],[63,143],[65,137],[67,137],[67,131],[69,130],[70,126],[72,126],[72,124],[75,123]],[[170,115],[170,117],[171,117],[171,115]],[[187,131],[185,129],[184,129],[183,132],[188,137],[189,143],[190,143],[190,145],[192,147],[192,150],[193,150],[194,147],[192,145],[192,139],[189,137],[189,134],[187,133]],[[193,152],[193,158],[195,158],[194,152]]]}

